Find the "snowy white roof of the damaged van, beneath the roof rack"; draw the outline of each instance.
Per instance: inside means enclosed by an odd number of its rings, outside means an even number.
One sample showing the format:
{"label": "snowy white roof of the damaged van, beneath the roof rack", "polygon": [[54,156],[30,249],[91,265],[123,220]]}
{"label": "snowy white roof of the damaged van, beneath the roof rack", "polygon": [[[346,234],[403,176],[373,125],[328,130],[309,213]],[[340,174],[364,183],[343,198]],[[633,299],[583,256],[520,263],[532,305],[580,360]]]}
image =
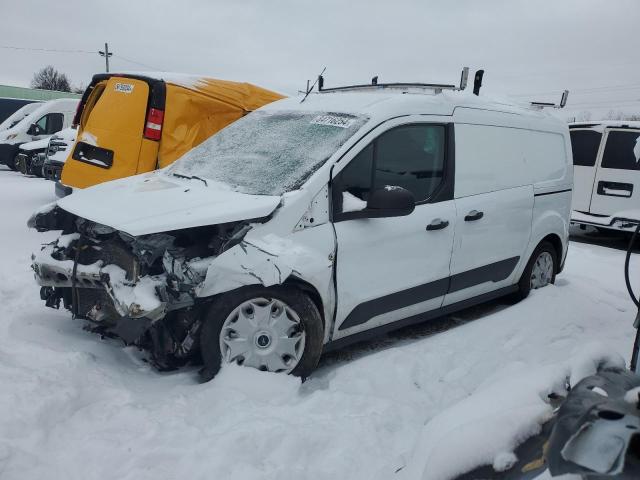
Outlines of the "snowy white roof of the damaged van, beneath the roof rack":
{"label": "snowy white roof of the damaged van, beneath the roof rack", "polygon": [[452,115],[456,108],[481,108],[506,112],[531,118],[549,118],[546,111],[508,100],[493,99],[471,92],[448,91],[434,93],[429,87],[402,87],[362,89],[348,91],[314,92],[301,103],[302,96],[274,102],[263,107],[266,110],[296,110],[342,112],[367,115],[375,118],[392,118],[398,115],[430,114]]}

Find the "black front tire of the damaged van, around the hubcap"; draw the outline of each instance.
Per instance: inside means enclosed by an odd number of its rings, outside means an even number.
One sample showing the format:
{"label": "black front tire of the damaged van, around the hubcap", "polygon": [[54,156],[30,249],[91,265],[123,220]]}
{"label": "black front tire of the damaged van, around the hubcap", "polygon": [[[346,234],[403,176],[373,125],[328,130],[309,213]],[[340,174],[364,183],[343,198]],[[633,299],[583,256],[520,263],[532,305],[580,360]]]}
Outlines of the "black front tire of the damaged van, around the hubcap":
{"label": "black front tire of the damaged van, around the hubcap", "polygon": [[[288,307],[287,318],[290,318],[288,315],[294,315],[297,316],[299,320],[298,326],[292,327],[294,329],[294,334],[292,335],[294,338],[298,338],[295,335],[300,334],[299,338],[303,338],[303,341],[299,341],[297,344],[298,348],[301,348],[300,358],[295,367],[293,367],[291,371],[288,371],[288,373],[304,379],[316,368],[320,355],[322,354],[324,328],[322,317],[315,303],[306,293],[294,287],[278,285],[265,288],[252,285],[220,295],[214,300],[208,312],[205,314],[200,334],[200,350],[204,364],[204,368],[200,372],[202,381],[207,382],[211,380],[220,371],[223,361],[223,347],[221,344],[224,343],[221,335],[225,322],[227,322],[225,330],[230,330],[233,333],[233,326],[236,323],[231,322],[230,319],[235,317],[237,318],[236,322],[239,322],[241,319],[238,312],[242,311],[243,306],[246,307],[247,305],[253,305],[252,302],[263,301],[269,302],[268,305],[284,305]],[[273,308],[277,307],[274,306]],[[296,330],[299,331],[296,333]],[[249,338],[249,336],[251,336],[251,338]],[[260,348],[265,348],[259,345],[261,336],[262,334],[260,332],[252,332],[250,335],[247,335],[248,343],[246,345],[251,345],[251,352],[247,352],[247,357],[254,363],[260,362],[261,358],[264,358],[259,356],[262,352]],[[277,351],[277,354],[281,355],[281,352],[275,348],[277,347],[277,343],[275,342],[277,342],[277,340],[274,341],[273,344],[274,351]],[[231,352],[231,350],[232,349],[229,348],[226,353]],[[280,358],[283,357],[281,356]],[[290,360],[294,358],[294,356],[289,357]],[[234,360],[232,359],[232,361]],[[239,356],[239,359],[236,360],[235,363],[241,363],[243,361],[244,357]],[[266,369],[264,366],[251,366]]]}

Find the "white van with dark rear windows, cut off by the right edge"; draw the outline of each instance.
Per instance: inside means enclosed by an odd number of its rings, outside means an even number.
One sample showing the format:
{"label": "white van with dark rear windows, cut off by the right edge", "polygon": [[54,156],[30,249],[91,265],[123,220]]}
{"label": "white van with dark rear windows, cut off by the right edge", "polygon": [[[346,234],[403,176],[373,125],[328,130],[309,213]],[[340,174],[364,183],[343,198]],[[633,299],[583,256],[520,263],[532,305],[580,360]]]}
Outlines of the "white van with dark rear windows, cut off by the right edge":
{"label": "white van with dark rear windows, cut off by the right edge", "polygon": [[632,231],[640,221],[640,122],[569,125],[575,187],[571,222]]}

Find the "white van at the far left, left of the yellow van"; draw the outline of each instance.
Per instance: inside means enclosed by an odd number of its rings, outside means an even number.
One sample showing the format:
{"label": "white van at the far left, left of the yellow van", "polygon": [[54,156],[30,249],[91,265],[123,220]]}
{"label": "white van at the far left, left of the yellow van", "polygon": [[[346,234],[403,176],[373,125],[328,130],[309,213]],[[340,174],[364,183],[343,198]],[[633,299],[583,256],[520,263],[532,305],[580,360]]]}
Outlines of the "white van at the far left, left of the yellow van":
{"label": "white van at the far left, left of the yellow van", "polygon": [[0,131],[0,164],[15,170],[20,145],[42,140],[71,125],[79,100],[60,98],[41,103],[13,127]]}

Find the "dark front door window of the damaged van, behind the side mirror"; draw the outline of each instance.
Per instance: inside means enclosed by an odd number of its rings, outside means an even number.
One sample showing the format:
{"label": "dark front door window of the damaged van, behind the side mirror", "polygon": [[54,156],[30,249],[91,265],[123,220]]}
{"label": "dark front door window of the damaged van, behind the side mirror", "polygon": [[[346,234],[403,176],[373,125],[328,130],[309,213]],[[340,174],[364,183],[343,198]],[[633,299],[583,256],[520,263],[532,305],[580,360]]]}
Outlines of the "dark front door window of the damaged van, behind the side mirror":
{"label": "dark front door window of the damaged van, behind the side mirror", "polygon": [[416,203],[428,200],[442,183],[445,127],[415,124],[389,130],[356,155],[334,181],[334,202],[342,212],[343,193],[362,201],[385,186],[409,190]]}

